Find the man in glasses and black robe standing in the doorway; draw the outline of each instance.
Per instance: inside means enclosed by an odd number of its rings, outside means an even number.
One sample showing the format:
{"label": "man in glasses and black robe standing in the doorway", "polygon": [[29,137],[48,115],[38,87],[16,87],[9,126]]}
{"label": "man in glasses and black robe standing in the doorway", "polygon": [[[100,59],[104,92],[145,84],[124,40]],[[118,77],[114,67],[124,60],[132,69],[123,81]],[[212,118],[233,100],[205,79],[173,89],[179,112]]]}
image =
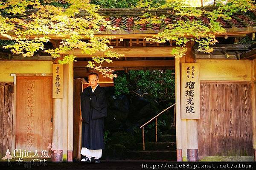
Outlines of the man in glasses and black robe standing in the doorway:
{"label": "man in glasses and black robe standing in the doorway", "polygon": [[104,117],[107,116],[107,101],[105,91],[99,86],[99,76],[91,73],[88,76],[89,85],[81,94],[82,113],[82,149],[81,161],[94,161],[99,163],[104,144]]}

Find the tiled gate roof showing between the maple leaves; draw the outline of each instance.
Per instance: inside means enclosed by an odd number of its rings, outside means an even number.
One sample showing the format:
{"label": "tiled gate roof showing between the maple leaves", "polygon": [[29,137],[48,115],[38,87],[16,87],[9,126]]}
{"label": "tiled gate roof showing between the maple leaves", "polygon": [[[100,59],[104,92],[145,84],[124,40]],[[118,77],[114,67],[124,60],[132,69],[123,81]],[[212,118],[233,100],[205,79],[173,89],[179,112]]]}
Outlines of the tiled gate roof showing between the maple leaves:
{"label": "tiled gate roof showing between the maple leaves", "polygon": [[[205,10],[213,10],[216,7],[204,7]],[[35,12],[35,10],[28,10],[27,13]],[[178,20],[201,20],[207,26],[209,20],[207,17],[178,17],[170,8],[158,9],[157,11],[146,11],[156,16],[164,15],[165,19],[160,19],[161,24],[136,24],[139,21],[145,10],[142,8],[102,8],[99,9],[99,14],[104,15],[106,20],[111,22],[112,26],[119,27],[118,31],[107,30],[101,27],[98,34],[150,34],[162,31],[169,23],[176,23]],[[86,15],[85,11],[81,11],[76,17],[83,17]],[[7,17],[14,17],[13,15],[6,15]],[[17,17],[17,16],[16,16]],[[256,20],[246,14],[234,14],[231,20],[223,20],[218,18],[218,22],[227,30],[233,31],[249,31],[256,32]]]}

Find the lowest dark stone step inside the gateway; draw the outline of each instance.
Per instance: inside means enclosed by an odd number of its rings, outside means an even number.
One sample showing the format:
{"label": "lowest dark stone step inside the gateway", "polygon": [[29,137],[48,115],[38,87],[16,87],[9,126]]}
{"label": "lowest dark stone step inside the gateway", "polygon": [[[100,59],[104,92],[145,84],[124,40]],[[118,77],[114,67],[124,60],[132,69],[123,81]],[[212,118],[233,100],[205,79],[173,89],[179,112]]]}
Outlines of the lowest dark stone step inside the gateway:
{"label": "lowest dark stone step inside the gateway", "polygon": [[130,150],[126,159],[176,161],[176,151],[172,150]]}

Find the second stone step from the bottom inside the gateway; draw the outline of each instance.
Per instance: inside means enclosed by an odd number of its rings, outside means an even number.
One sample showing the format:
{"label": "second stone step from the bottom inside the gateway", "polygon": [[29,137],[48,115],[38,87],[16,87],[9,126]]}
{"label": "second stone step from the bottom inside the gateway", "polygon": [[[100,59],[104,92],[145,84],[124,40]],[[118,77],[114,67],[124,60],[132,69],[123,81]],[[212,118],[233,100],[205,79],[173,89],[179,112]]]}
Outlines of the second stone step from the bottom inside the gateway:
{"label": "second stone step from the bottom inside the gateway", "polygon": [[[137,150],[143,150],[143,143],[137,144]],[[145,150],[176,150],[175,142],[146,142]]]}

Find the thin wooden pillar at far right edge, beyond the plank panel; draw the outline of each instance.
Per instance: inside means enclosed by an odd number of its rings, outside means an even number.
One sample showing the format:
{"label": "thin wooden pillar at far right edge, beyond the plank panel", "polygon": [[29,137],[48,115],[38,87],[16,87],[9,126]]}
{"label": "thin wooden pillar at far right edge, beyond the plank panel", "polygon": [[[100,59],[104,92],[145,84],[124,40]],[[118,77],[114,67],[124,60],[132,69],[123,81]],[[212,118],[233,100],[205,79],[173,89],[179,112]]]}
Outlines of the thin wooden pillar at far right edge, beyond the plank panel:
{"label": "thin wooden pillar at far right edge, beyond the plank panel", "polygon": [[256,59],[251,64],[252,75],[252,119],[253,119],[253,155],[256,161]]}

